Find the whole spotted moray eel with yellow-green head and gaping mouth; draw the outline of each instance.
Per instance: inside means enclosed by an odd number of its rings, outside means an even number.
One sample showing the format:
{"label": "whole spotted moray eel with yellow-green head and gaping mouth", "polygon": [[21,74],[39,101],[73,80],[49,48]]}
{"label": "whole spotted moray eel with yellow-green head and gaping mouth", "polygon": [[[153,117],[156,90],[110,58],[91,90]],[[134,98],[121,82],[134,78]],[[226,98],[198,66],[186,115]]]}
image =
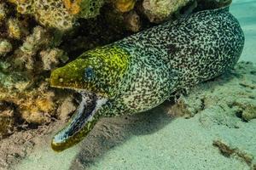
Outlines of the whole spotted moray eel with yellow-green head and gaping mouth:
{"label": "whole spotted moray eel with yellow-green head and gaping mouth", "polygon": [[79,143],[104,116],[148,111],[179,89],[232,68],[244,35],[229,7],[168,21],[101,48],[52,71],[50,84],[79,92],[82,101],[52,139],[65,150]]}

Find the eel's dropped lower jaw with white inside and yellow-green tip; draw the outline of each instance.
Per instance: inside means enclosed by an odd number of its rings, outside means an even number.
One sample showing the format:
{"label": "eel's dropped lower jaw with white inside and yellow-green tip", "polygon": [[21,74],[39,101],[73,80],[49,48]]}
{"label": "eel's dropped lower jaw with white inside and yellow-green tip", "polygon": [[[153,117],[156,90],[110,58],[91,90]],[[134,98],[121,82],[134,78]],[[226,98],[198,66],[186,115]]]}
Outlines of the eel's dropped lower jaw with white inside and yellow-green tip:
{"label": "eel's dropped lower jaw with white inside and yellow-green tip", "polygon": [[82,100],[71,120],[66,127],[55,134],[51,141],[51,147],[55,151],[66,150],[84,139],[101,117],[98,110],[108,101],[94,93],[81,92],[80,94]]}

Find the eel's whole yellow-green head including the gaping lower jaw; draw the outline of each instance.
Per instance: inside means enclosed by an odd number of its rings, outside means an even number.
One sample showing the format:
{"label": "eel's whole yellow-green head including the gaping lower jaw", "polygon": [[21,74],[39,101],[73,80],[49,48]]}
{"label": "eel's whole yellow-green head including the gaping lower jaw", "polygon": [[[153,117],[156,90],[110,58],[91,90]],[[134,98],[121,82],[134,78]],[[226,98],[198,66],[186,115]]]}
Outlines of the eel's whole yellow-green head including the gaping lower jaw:
{"label": "eel's whole yellow-green head including the gaping lower jaw", "polygon": [[82,94],[72,120],[53,138],[53,150],[65,150],[90,132],[102,116],[102,108],[115,94],[117,83],[128,67],[128,59],[125,50],[106,46],[90,50],[51,73],[52,87],[71,88]]}

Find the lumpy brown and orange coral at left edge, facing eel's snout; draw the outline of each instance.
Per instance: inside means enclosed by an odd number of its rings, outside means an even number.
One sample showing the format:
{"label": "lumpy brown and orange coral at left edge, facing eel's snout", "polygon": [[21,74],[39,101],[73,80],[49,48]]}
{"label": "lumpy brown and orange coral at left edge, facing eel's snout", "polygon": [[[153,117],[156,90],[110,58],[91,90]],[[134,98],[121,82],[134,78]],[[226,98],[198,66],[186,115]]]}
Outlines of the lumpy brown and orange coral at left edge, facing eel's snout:
{"label": "lumpy brown and orange coral at left edge, facing eel's snout", "polygon": [[53,32],[16,14],[11,4],[1,3],[0,13],[0,136],[6,137],[24,122],[49,122],[55,99],[44,71],[67,62],[67,56],[54,48]]}

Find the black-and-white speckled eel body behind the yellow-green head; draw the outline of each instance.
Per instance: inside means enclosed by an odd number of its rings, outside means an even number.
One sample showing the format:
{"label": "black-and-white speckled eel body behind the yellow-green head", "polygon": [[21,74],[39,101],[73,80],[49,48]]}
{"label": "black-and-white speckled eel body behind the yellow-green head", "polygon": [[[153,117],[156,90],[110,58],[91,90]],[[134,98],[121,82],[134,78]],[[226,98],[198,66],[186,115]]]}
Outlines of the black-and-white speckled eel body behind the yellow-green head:
{"label": "black-and-white speckled eel body behind the yellow-green head", "polygon": [[[191,14],[115,42],[131,55],[119,83],[117,111],[147,111],[181,88],[189,88],[232,68],[241,55],[244,35],[229,8]],[[121,109],[118,109],[121,108]]]}

